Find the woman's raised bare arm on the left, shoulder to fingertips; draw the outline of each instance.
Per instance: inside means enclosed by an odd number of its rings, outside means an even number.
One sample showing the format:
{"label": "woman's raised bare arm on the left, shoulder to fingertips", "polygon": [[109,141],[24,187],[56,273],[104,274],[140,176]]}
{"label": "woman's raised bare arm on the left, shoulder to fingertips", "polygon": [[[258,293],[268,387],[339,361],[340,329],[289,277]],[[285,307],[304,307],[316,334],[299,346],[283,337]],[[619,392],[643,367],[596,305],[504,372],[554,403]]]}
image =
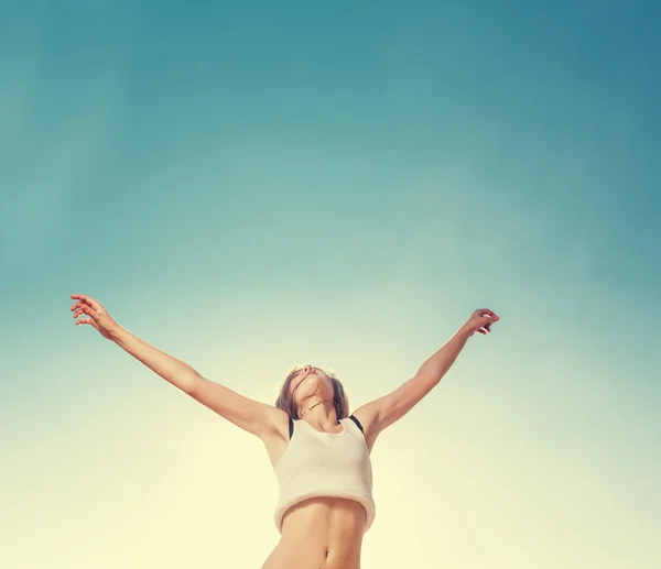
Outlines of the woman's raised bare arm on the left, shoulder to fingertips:
{"label": "woman's raised bare arm on the left, shoulder to fingertips", "polygon": [[72,295],[76,326],[88,324],[158,373],[165,381],[191,395],[238,427],[260,438],[279,433],[286,425],[286,414],[271,405],[239,395],[232,390],[206,380],[187,363],[150,346],[119,326],[104,306],[87,295]]}

